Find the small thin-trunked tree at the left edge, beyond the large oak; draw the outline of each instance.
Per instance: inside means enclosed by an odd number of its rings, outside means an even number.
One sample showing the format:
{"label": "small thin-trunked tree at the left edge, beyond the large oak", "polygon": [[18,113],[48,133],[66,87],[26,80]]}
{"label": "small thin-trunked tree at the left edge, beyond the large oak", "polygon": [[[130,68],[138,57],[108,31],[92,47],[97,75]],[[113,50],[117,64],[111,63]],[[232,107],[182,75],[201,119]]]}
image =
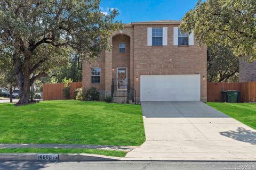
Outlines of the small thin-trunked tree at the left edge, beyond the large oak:
{"label": "small thin-trunked tree at the left edge, beyond the large oak", "polygon": [[18,87],[18,81],[13,70],[12,60],[9,53],[3,53],[0,56],[0,87],[9,91],[10,103],[12,103],[12,94]]}

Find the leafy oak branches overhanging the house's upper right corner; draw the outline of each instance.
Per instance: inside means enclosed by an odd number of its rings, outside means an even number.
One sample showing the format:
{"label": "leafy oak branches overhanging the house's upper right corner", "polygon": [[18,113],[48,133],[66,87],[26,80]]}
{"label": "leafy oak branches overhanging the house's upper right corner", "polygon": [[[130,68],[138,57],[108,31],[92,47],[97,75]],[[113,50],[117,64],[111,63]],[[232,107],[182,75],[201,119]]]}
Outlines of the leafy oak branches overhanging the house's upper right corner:
{"label": "leafy oak branches overhanging the house's upper right corner", "polygon": [[235,56],[256,59],[255,0],[199,0],[182,20],[180,28],[194,30],[199,44],[221,44]]}

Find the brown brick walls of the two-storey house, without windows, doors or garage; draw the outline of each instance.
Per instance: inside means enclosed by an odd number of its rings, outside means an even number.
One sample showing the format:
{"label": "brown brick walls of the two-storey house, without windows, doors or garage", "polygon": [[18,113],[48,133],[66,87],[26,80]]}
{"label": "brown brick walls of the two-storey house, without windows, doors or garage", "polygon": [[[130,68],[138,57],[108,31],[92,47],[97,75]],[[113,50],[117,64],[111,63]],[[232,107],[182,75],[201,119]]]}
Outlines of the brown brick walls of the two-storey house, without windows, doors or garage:
{"label": "brown brick walls of the two-storey house, without windows, doors or garage", "polygon": [[[125,25],[122,33],[115,32],[110,37],[111,51],[103,52],[97,62],[83,63],[83,87],[94,86],[102,95],[110,95],[116,68],[127,67],[131,87],[137,90],[139,101],[140,75],[201,74],[201,101],[206,101],[206,47],[200,48],[196,41],[192,46],[174,46],[173,27],[178,25],[177,22]],[[167,27],[167,46],[147,46],[148,27]],[[119,53],[119,43],[126,43],[126,53]],[[101,67],[101,84],[91,84],[91,67]]]}

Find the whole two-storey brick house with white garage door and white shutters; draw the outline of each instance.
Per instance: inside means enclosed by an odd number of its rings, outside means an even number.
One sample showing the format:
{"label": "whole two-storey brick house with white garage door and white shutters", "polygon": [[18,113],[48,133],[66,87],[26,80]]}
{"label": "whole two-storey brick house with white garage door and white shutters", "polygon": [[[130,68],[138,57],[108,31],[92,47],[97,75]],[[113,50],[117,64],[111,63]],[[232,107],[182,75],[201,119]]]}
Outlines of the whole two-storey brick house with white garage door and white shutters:
{"label": "whole two-storey brick house with white garage door and white shutters", "polygon": [[206,47],[193,32],[181,35],[181,21],[125,24],[113,33],[111,51],[83,63],[83,88],[103,97],[138,101],[206,102]]}

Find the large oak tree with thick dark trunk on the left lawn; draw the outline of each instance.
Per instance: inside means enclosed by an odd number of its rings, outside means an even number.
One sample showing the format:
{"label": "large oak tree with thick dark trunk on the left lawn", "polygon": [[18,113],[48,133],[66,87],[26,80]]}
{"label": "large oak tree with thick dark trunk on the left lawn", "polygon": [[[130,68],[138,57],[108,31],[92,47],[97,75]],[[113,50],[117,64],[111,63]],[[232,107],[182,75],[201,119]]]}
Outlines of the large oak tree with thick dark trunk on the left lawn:
{"label": "large oak tree with thick dark trunk on the left lawn", "polygon": [[[0,1],[0,50],[12,51],[20,89],[18,104],[29,103],[29,89],[75,51],[85,60],[107,49],[116,10],[102,14],[99,0]],[[62,60],[63,58],[63,60]]]}

